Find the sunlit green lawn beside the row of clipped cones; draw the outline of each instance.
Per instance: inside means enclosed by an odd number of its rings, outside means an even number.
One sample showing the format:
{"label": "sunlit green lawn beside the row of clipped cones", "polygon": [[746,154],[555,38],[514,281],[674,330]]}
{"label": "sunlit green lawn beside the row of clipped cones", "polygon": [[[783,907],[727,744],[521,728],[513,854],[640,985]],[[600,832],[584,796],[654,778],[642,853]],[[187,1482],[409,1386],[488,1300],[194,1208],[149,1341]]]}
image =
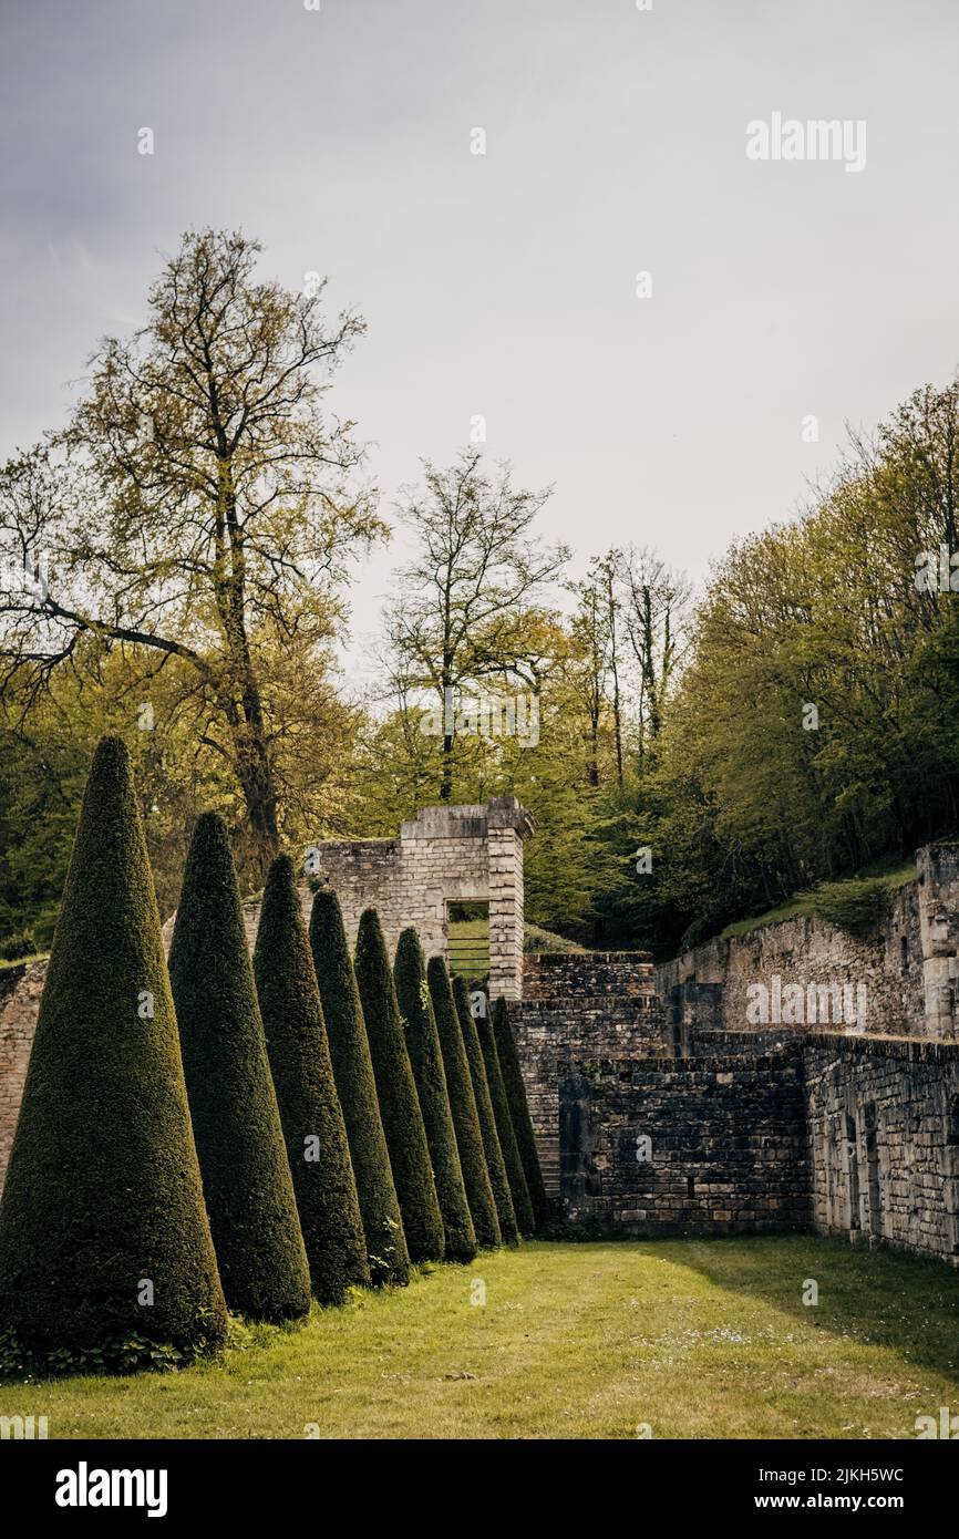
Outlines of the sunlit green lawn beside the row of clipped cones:
{"label": "sunlit green lawn beside the row of clipped cones", "polygon": [[941,1405],[959,1276],[805,1236],[526,1244],[222,1365],[0,1388],[51,1437],[914,1437]]}

